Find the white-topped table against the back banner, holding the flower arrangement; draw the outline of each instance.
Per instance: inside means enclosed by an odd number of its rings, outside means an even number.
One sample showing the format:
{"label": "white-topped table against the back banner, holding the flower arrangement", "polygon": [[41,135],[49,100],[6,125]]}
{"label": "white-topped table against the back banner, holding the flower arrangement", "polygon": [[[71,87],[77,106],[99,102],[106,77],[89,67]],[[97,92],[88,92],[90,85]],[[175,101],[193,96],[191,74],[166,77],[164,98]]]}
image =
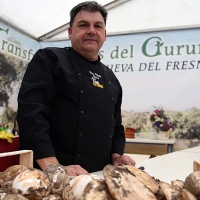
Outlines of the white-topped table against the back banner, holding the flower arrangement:
{"label": "white-topped table against the back banner, holding the flower arrangement", "polygon": [[152,140],[148,138],[141,138],[141,139],[135,139],[135,138],[126,138],[126,143],[132,143],[132,144],[148,144],[148,145],[167,145],[167,153],[171,153],[174,151],[174,144],[175,139],[168,139],[168,140]]}

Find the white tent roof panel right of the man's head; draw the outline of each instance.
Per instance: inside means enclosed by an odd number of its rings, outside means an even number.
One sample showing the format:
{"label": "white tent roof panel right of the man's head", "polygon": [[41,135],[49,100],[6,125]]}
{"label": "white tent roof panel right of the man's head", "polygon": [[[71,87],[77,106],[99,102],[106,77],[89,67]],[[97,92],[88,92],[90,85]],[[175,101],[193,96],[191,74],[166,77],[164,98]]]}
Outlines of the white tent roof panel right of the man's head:
{"label": "white tent roof panel right of the man's head", "polygon": [[200,27],[199,0],[130,0],[109,11],[109,33]]}

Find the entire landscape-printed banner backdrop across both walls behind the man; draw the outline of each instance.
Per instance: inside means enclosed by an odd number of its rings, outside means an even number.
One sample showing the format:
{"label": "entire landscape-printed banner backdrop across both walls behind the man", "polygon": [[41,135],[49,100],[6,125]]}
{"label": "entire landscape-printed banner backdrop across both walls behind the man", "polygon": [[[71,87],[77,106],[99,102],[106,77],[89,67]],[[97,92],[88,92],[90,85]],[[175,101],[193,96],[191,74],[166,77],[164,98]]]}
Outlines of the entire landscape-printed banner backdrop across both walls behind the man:
{"label": "entire landscape-printed banner backdrop across both walls behind the man", "polygon": [[[155,107],[177,120],[170,137],[180,148],[200,145],[200,30],[173,30],[107,36],[99,55],[123,88],[122,120],[143,137],[151,133]],[[13,124],[18,90],[27,64],[45,47],[70,40],[38,42],[0,22],[0,123]]]}

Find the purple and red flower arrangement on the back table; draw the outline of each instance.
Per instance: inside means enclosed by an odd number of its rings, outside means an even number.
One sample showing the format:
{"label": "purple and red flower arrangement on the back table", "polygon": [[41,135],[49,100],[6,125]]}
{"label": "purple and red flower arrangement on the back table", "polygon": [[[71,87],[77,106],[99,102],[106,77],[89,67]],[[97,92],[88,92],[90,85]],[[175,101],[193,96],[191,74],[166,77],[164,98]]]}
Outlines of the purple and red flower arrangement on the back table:
{"label": "purple and red flower arrangement on the back table", "polygon": [[154,113],[150,115],[150,121],[152,122],[152,128],[155,128],[156,132],[174,130],[177,124],[176,120],[165,115],[165,111],[162,107],[156,108]]}

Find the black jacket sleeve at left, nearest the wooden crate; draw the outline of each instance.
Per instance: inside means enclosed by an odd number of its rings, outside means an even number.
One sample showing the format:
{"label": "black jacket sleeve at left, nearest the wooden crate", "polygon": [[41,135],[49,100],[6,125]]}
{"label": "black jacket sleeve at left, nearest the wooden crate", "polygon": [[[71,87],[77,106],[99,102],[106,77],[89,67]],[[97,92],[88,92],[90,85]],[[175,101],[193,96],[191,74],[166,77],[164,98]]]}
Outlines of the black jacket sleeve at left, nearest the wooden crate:
{"label": "black jacket sleeve at left, nearest the wooden crate", "polygon": [[49,137],[48,116],[57,91],[53,72],[56,55],[50,49],[36,52],[18,94],[19,148],[33,150],[34,159],[56,156]]}

